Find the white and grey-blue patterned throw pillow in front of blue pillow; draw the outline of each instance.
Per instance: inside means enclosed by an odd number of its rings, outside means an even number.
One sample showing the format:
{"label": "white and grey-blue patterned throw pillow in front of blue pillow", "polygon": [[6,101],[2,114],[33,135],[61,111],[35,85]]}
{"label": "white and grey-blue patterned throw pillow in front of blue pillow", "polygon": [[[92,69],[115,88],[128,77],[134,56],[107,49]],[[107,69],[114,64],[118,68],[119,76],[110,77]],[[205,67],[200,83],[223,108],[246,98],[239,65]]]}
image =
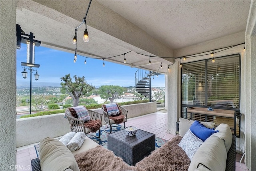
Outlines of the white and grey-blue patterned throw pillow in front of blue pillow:
{"label": "white and grey-blue patterned throw pillow in front of blue pillow", "polygon": [[192,160],[194,154],[198,150],[198,148],[203,144],[203,141],[196,137],[190,129],[186,132],[184,137],[181,139],[178,146],[180,146],[188,155],[188,158]]}

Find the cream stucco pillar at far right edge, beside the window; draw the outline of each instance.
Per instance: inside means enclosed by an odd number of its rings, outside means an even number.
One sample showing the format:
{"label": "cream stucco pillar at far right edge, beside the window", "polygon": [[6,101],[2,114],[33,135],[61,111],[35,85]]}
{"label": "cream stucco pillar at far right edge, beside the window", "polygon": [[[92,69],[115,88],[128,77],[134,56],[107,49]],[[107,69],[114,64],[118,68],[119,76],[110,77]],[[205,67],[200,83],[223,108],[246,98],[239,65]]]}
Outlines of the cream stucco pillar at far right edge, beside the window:
{"label": "cream stucco pillar at far right edge, beside the window", "polygon": [[245,52],[245,159],[250,170],[256,170],[256,0],[251,1],[246,26]]}

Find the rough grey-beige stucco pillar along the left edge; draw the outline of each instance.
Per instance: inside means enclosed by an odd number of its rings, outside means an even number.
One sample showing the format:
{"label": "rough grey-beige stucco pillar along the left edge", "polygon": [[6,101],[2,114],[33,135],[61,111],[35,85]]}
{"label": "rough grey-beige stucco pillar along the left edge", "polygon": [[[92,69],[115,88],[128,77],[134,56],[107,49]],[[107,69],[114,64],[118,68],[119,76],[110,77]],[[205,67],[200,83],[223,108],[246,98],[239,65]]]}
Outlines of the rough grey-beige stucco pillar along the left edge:
{"label": "rough grey-beige stucco pillar along the left edge", "polygon": [[16,165],[16,1],[0,1],[0,170]]}

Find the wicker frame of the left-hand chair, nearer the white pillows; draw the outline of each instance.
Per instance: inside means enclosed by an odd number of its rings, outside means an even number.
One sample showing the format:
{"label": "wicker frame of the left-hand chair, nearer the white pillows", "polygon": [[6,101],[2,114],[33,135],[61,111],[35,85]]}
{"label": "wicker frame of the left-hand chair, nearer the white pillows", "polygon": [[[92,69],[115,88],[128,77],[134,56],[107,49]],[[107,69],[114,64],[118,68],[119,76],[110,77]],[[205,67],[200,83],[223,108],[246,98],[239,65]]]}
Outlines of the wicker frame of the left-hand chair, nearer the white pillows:
{"label": "wicker frame of the left-hand chair, nearer the white pillows", "polygon": [[[72,108],[72,107],[70,107],[70,108]],[[66,117],[68,119],[68,122],[70,124],[71,131],[73,131],[73,132],[84,132],[86,135],[92,135],[94,137],[97,137],[96,135],[88,134],[90,132],[95,132],[95,131],[93,131],[91,128],[86,127],[86,122],[84,122],[81,119],[78,119],[76,117],[73,117],[72,114],[69,111],[70,108],[66,109],[65,115],[66,115]],[[85,109],[86,109],[86,107],[85,107]],[[100,121],[100,127],[101,127],[102,126],[102,123],[101,123],[102,113],[92,111],[92,110],[89,110],[89,109],[86,109],[86,110],[87,110],[88,114],[90,115],[90,121],[99,120]],[[99,136],[97,138],[100,138],[100,133],[101,133],[100,132],[100,127],[99,128],[97,127],[97,130],[99,131]]]}

